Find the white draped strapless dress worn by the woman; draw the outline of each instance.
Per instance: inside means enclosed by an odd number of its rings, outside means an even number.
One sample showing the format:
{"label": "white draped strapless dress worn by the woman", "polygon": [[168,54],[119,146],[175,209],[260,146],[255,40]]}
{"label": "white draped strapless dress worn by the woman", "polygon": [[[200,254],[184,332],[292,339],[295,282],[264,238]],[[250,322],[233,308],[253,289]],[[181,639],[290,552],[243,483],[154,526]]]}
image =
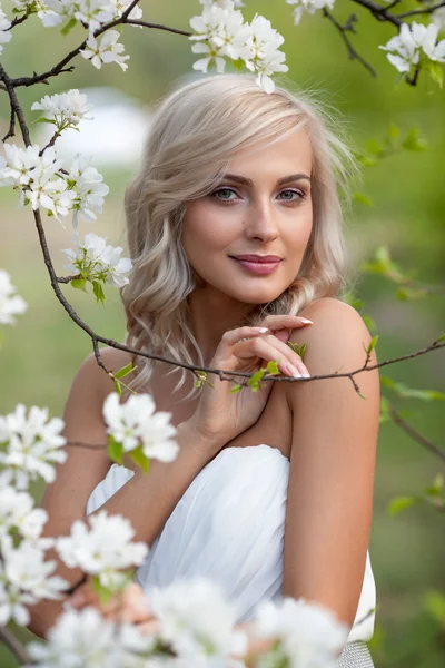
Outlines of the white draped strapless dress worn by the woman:
{"label": "white draped strapless dress worn by the woman", "polygon": [[[87,514],[131,477],[113,464],[92,491]],[[270,445],[221,450],[186,490],[155,540],[136,579],[147,593],[174,579],[207,576],[237,606],[238,621],[254,617],[257,603],[281,596],[283,550],[289,461]],[[374,632],[376,590],[369,553],[348,642]]]}

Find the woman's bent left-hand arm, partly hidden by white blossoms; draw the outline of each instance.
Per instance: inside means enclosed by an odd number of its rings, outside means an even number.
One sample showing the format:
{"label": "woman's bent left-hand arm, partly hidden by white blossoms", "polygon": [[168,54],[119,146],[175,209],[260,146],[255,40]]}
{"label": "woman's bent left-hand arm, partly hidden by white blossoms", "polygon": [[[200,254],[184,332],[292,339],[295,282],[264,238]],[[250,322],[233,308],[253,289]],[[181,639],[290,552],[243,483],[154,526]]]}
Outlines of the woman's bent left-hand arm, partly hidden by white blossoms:
{"label": "woman's bent left-hand arm, partly hidden by white blossoms", "polygon": [[[112,350],[102,353],[106,365],[112,371],[128,363],[121,354],[117,357],[113,353]],[[88,357],[76,375],[63,414],[63,433],[68,441],[107,443],[102,403],[111,391],[112,381],[98,367],[93,356]],[[130,520],[136,530],[135,541],[150,544],[155,540],[181,494],[207,463],[206,444],[186,422],[178,426],[177,442],[180,450],[174,462],[154,460],[148,475],[136,470],[131,480],[101,507],[110,514],[120,513]],[[91,450],[67,445],[67,461],[58,466],[55,482],[43,494],[41,507],[49,514],[44,536],[68,534],[72,522],[85,518],[88,498],[111,464],[105,448]],[[130,468],[127,462],[126,465]],[[48,559],[57,561],[57,573],[70,584],[83,574],[80,569],[67,568],[53,550],[48,551]],[[30,630],[43,637],[61,610],[61,601],[43,600],[31,606]]]}

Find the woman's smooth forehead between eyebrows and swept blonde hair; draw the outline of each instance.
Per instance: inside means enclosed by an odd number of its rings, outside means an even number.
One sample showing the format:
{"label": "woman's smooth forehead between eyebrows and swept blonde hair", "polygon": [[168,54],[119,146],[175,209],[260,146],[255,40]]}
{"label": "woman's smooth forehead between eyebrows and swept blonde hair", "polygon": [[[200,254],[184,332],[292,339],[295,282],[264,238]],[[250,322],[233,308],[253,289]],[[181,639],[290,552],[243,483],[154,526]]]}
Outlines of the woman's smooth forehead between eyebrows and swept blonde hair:
{"label": "woman's smooth forehead between eyebrows and swept blonde hair", "polygon": [[312,171],[313,151],[310,139],[304,128],[293,135],[269,141],[258,141],[241,149],[228,165],[228,173],[253,178],[270,176],[279,178],[289,174]]}

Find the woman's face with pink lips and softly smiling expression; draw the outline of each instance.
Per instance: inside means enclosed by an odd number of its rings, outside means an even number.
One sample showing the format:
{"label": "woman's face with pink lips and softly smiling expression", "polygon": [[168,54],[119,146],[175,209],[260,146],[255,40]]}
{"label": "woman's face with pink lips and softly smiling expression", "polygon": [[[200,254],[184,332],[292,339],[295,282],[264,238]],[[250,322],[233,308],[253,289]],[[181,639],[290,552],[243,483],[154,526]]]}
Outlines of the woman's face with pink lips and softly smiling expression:
{"label": "woman's face with pink lips and softly smiling expression", "polygon": [[[240,151],[220,185],[188,204],[182,245],[204,289],[263,304],[289,287],[313,227],[310,173],[301,128],[273,146]],[[274,257],[261,262],[266,256]]]}

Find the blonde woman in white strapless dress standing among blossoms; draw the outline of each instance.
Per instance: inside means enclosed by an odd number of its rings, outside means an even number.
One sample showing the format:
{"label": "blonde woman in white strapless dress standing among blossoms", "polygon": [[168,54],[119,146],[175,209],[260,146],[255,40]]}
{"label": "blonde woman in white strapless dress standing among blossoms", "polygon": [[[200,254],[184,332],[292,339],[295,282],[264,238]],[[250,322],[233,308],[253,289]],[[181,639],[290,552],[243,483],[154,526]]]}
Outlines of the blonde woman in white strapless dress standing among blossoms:
{"label": "blonde woman in white strapless dress standing among blossoms", "polygon": [[[339,189],[354,167],[309,96],[267,95],[250,76],[224,75],[162,101],[126,193],[127,342],[233,372],[279,360],[291,382],[234,394],[212,375],[212,389],[197,389],[191,373],[138,357],[130,385],[171,412],[177,460],[154,461],[144,477],[130,463],[110,468],[103,451],[69,448],[43,507],[50,534],[68,532],[86,508],[128,517],[135,540],[151,548],[137,571],[148,595],[204,574],[236,602],[239,622],[281,595],[325,605],[350,628],[338,666],[372,667],[378,372],[308,377],[366,362],[369,333],[337,297],[346,285]],[[288,342],[307,344],[304,362]],[[130,361],[113,348],[102,358],[110,371]],[[106,442],[112,391],[90,356],[67,402],[69,441]],[[62,564],[60,573],[82,574]],[[91,602],[88,587],[82,598]],[[40,603],[31,629],[43,635],[59,611]]]}

